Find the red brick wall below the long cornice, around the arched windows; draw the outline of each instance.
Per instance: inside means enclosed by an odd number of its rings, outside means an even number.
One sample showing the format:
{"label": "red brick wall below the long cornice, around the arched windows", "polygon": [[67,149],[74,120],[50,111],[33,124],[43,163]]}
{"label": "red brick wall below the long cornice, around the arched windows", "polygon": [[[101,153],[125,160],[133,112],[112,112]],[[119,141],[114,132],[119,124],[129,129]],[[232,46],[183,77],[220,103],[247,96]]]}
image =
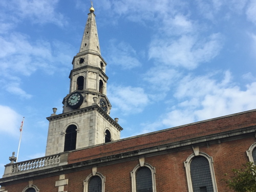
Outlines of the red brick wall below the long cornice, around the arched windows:
{"label": "red brick wall below the long cornice, around the arched windows", "polygon": [[[219,144],[201,146],[200,152],[204,152],[214,159],[214,170],[219,192],[231,191],[226,188],[222,179],[224,174],[231,174],[232,168],[239,168],[248,161],[246,150],[252,143],[256,142],[254,137],[239,140],[227,141]],[[193,154],[192,147],[178,152],[166,153],[157,156],[145,157],[145,163],[148,163],[156,169],[156,188],[160,192],[185,192],[187,189],[186,172],[184,161],[189,155]],[[130,173],[139,159],[127,160],[110,165],[99,165],[97,172],[105,177],[105,192],[126,192],[132,190]],[[92,173],[91,167],[86,170],[80,170],[75,173],[65,174],[65,179],[69,179],[69,184],[65,186],[65,190],[72,192],[83,191],[83,181]],[[44,179],[34,180],[40,191],[57,192],[55,181],[59,177],[48,177]],[[15,185],[6,186],[6,190],[10,192],[20,192],[28,182],[22,182]]]}

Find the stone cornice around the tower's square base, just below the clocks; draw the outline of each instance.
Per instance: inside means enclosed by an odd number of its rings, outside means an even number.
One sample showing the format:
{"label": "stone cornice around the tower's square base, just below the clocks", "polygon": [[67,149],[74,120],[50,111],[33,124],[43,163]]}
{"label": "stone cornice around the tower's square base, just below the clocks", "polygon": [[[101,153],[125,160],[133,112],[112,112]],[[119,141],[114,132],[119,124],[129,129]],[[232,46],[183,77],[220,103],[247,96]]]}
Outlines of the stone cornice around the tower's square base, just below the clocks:
{"label": "stone cornice around the tower's square base, just below the clocks", "polygon": [[62,113],[62,114],[59,114],[59,115],[54,115],[54,116],[51,116],[51,117],[47,117],[46,119],[48,121],[53,121],[53,120],[57,120],[57,119],[67,118],[69,116],[74,116],[74,115],[79,115],[79,114],[82,114],[82,113],[87,113],[87,112],[90,112],[90,111],[99,112],[99,114],[102,115],[106,120],[108,120],[118,131],[123,130],[123,128],[118,123],[116,123],[116,121],[114,119],[112,119],[108,114],[103,112],[103,110],[97,104],[92,105],[92,106],[88,106],[87,108],[75,110],[75,111],[72,111],[72,112]]}

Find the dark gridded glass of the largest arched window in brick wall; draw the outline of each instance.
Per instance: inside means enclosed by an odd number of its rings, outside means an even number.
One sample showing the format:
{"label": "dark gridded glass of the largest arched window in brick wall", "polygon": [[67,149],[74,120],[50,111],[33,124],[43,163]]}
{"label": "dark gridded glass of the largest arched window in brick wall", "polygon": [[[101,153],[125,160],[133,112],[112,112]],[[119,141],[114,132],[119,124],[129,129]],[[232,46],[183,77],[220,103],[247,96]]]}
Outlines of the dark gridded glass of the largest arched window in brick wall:
{"label": "dark gridded glass of the largest arched window in brick wall", "polygon": [[214,192],[209,161],[203,156],[195,157],[190,163],[193,192]]}

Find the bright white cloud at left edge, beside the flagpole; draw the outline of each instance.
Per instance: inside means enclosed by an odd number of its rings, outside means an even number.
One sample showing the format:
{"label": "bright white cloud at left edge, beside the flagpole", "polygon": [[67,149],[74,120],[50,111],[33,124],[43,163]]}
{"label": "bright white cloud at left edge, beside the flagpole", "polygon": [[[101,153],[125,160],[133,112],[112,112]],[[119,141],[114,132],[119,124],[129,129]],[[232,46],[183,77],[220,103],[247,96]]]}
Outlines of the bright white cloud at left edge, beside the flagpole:
{"label": "bright white cloud at left edge, beside the flagpole", "polygon": [[22,116],[9,106],[4,105],[0,105],[0,114],[2,119],[0,124],[1,135],[8,134],[18,138]]}

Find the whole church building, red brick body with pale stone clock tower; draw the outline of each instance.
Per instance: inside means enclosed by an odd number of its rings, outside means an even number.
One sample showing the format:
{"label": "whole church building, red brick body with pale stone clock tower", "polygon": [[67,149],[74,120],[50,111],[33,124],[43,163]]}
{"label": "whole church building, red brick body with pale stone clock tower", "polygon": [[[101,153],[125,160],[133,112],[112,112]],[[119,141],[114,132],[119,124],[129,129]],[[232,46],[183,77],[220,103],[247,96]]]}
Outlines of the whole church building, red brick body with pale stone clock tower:
{"label": "whole church building, red brick body with pale stone clock tower", "polygon": [[72,61],[63,113],[47,117],[44,157],[5,165],[0,192],[226,192],[256,162],[256,110],[120,139],[93,6]]}

